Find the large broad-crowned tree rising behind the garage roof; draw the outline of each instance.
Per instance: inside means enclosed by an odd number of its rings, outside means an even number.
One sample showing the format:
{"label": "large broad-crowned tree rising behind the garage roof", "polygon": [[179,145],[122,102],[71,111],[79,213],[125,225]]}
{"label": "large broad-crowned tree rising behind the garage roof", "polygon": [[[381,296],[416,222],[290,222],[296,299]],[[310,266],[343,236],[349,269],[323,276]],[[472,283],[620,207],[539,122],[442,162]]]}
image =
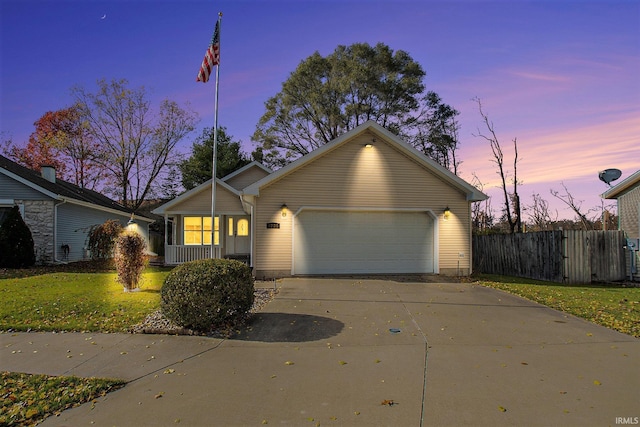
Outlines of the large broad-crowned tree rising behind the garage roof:
{"label": "large broad-crowned tree rising behind the garage roof", "polygon": [[[442,101],[432,92],[424,93],[425,75],[407,52],[394,52],[383,43],[340,45],[326,57],[315,52],[265,103],[266,111],[252,137],[257,152],[265,164],[281,167],[373,120],[425,154],[434,155],[434,160],[442,160],[443,150],[432,145],[444,140],[430,139],[442,133],[431,128],[451,132],[457,112],[445,106],[441,117],[449,120],[447,126],[434,125],[433,117],[430,121],[429,114],[439,113],[436,104]],[[448,151],[457,141],[446,144]],[[449,167],[456,164],[450,156],[446,162]]]}

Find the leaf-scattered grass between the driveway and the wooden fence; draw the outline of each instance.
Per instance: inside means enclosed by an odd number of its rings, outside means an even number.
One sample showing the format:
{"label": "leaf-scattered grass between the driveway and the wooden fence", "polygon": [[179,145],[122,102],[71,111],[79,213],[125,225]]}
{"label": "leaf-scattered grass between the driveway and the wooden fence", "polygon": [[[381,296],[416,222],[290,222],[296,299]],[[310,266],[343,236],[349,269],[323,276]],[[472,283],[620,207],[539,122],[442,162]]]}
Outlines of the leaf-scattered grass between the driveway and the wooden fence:
{"label": "leaf-scattered grass between the driveway and the wooden fence", "polygon": [[640,288],[571,286],[533,279],[476,275],[477,283],[640,338]]}

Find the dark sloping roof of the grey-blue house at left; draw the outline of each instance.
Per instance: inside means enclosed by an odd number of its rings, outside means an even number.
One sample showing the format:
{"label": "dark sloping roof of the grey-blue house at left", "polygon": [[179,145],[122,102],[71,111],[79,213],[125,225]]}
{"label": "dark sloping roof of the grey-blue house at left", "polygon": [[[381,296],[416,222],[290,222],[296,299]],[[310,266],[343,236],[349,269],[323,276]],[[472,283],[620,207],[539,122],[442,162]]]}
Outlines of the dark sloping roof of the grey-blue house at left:
{"label": "dark sloping roof of the grey-blue house at left", "polygon": [[[39,172],[19,165],[2,155],[0,155],[0,173],[15,179],[36,191],[39,191],[42,194],[45,194],[52,199],[66,200],[69,203],[99,210],[117,211],[127,215],[131,214],[131,209],[122,206],[97,191],[81,188],[61,179],[56,179],[55,182],[51,182],[43,178]],[[153,222],[153,220],[144,216],[136,215],[135,217]]]}

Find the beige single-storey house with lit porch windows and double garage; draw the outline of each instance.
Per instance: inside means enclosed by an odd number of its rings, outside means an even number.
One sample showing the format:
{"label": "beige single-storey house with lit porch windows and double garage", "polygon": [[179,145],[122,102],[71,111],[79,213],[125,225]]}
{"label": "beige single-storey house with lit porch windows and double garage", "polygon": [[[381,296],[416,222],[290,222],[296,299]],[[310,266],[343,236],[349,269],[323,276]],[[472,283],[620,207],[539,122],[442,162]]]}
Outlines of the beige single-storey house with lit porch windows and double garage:
{"label": "beige single-storey house with lit porch windows and double garage", "polygon": [[[246,254],[256,277],[471,273],[487,196],[375,122],[276,172],[252,165],[216,180],[213,228],[215,256]],[[167,263],[209,256],[211,181],[154,213],[174,225]]]}

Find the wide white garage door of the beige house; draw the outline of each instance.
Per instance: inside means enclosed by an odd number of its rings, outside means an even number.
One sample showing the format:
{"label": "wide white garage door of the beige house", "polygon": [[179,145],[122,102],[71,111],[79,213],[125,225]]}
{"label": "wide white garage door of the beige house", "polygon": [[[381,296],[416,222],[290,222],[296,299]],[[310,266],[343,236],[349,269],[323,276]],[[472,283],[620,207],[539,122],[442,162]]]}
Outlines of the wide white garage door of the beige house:
{"label": "wide white garage door of the beige house", "polygon": [[426,212],[303,210],[294,227],[294,274],[434,271]]}

